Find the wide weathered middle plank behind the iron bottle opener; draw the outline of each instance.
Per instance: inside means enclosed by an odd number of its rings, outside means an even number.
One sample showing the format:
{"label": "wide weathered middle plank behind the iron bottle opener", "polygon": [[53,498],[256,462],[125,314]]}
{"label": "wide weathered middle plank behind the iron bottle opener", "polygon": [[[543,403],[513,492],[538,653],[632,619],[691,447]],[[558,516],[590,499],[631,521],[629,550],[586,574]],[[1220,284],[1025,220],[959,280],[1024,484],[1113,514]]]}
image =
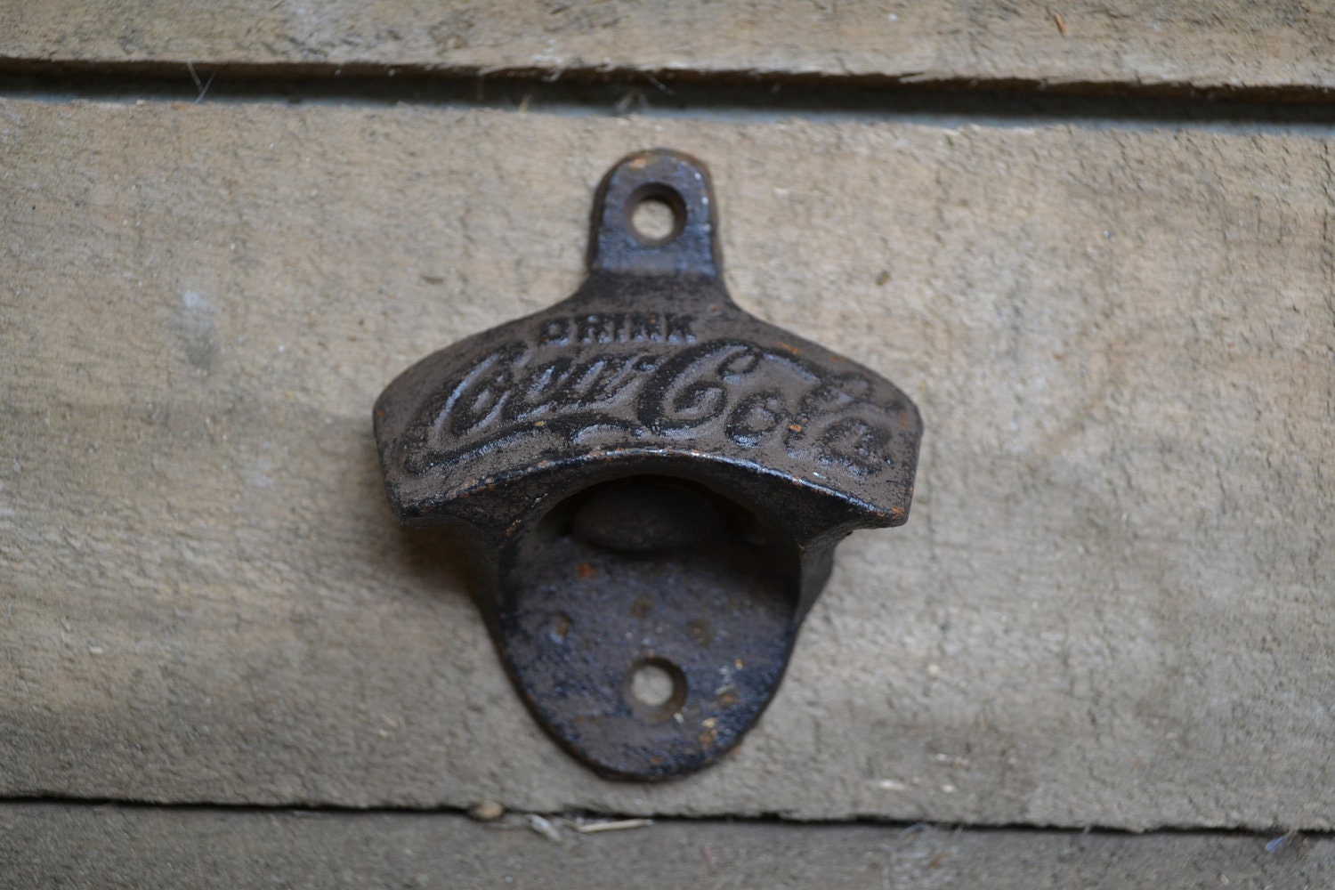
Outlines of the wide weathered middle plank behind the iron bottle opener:
{"label": "wide weathered middle plank behind the iron bottle opener", "polygon": [[[370,431],[649,145],[926,426],[761,725],[655,787],[542,735]],[[1335,825],[1326,140],[11,100],[0,147],[0,794]]]}

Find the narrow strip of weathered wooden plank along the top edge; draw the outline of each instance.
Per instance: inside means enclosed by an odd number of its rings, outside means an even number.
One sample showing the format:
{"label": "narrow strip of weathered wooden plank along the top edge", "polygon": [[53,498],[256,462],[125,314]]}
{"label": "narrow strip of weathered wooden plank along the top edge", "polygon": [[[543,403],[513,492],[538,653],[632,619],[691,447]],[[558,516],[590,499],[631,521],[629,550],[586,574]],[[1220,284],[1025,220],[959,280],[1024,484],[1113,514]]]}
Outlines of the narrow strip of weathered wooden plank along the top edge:
{"label": "narrow strip of weathered wooden plank along the top edge", "polygon": [[1335,85],[1332,41],[1335,8],[1298,0],[45,0],[0,9],[0,59],[182,67],[685,71],[1310,91]]}

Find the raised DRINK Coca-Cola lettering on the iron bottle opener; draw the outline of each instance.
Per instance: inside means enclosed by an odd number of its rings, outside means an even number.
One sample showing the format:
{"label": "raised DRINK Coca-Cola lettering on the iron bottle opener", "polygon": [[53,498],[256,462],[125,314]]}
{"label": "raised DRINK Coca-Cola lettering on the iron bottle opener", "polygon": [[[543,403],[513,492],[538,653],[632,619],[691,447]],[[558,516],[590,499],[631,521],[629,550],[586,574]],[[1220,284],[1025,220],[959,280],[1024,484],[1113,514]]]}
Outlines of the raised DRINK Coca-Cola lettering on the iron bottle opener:
{"label": "raised DRINK Coca-Cola lettering on the iron bottle opener", "polygon": [[904,406],[862,374],[832,372],[796,351],[694,339],[685,316],[547,320],[531,342],[497,346],[449,387],[427,451],[466,460],[533,435],[654,446],[721,432],[741,451],[781,448],[861,478],[890,466]]}

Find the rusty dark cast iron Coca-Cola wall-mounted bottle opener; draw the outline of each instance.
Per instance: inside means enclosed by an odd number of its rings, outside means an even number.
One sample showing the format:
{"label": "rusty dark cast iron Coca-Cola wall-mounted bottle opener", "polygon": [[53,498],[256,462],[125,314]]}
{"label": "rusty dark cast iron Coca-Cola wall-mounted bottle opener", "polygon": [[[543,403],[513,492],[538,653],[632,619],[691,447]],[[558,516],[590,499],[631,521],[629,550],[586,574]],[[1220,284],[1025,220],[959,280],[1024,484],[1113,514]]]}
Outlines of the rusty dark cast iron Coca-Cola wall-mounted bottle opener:
{"label": "rusty dark cast iron Coca-Cola wall-mounted bottle opener", "polygon": [[[631,220],[646,200],[672,209],[662,238]],[[834,546],[904,523],[913,495],[917,408],[738,308],[716,228],[704,164],[630,155],[594,197],[573,296],[423,359],[375,404],[398,518],[467,535],[519,695],[607,778],[736,746]]]}

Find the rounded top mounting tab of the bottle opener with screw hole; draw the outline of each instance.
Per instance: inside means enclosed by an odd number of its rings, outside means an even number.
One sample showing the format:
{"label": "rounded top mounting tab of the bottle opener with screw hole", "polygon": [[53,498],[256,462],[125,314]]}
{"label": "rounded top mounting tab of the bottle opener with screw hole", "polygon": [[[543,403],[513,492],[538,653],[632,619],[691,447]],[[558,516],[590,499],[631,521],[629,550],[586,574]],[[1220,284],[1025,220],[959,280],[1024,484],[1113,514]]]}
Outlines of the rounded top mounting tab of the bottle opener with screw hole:
{"label": "rounded top mounting tab of the bottle opener with screw hole", "polygon": [[[672,209],[666,236],[655,239],[635,228],[635,208],[643,201]],[[718,278],[724,263],[716,228],[714,189],[702,161],[666,148],[627,155],[598,185],[589,271]]]}

